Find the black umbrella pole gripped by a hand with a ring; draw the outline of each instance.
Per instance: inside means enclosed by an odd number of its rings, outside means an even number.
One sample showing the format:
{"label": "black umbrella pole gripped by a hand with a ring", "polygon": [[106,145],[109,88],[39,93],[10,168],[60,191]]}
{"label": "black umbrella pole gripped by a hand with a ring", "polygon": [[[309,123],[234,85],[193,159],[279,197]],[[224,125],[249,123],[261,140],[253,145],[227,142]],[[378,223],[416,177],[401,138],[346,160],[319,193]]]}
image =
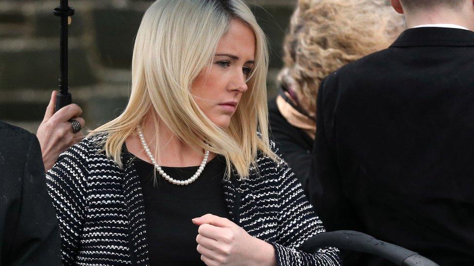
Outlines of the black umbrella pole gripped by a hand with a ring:
{"label": "black umbrella pole gripped by a hand with a ring", "polygon": [[68,6],[68,0],[61,0],[60,6],[54,9],[54,15],[61,17],[60,23],[60,77],[59,94],[56,96],[55,110],[59,110],[72,102],[68,92],[68,19],[74,15],[74,9]]}

